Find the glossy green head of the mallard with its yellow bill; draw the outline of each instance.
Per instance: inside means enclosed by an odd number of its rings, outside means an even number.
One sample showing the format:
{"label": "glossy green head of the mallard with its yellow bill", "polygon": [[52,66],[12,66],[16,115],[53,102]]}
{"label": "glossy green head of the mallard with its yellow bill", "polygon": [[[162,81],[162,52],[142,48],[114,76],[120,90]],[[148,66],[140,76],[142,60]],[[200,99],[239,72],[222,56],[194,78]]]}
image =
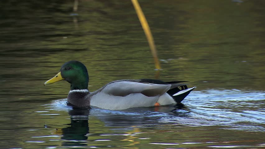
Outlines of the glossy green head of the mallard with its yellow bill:
{"label": "glossy green head of the mallard with its yellow bill", "polygon": [[46,81],[44,85],[65,80],[71,84],[71,90],[87,89],[88,79],[87,69],[84,64],[80,61],[68,61],[62,65],[60,72],[52,79]]}

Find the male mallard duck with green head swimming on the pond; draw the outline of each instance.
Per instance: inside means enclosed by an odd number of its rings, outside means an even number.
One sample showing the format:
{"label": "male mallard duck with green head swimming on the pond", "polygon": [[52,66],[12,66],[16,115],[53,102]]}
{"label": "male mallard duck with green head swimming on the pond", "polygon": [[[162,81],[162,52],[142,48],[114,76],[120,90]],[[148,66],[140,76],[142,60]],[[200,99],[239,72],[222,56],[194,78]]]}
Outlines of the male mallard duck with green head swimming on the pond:
{"label": "male mallard duck with green head swimming on the pond", "polygon": [[[93,106],[108,110],[124,110],[136,107],[177,104],[194,89],[184,82],[164,82],[157,79],[124,79],[112,81],[100,89],[88,90],[89,76],[86,66],[80,61],[64,63],[52,79],[44,85],[58,81],[70,83],[67,102],[77,108]],[[183,84],[184,83],[184,84]]]}

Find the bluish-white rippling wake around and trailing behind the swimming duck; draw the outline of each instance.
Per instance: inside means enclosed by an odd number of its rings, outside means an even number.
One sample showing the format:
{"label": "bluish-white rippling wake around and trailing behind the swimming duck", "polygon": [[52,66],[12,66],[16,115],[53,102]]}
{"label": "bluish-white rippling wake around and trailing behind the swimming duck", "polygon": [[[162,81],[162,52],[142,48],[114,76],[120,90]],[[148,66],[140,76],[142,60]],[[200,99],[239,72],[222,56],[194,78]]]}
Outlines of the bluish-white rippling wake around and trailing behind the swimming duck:
{"label": "bluish-white rippling wake around and trailing behind the swimming duck", "polygon": [[[168,105],[111,111],[93,107],[89,115],[96,116],[105,126],[219,125],[222,126],[220,129],[265,132],[264,101],[265,93],[261,91],[205,90],[193,92],[184,100],[182,108]],[[45,106],[50,110],[71,111],[66,103],[67,100],[62,99]]]}

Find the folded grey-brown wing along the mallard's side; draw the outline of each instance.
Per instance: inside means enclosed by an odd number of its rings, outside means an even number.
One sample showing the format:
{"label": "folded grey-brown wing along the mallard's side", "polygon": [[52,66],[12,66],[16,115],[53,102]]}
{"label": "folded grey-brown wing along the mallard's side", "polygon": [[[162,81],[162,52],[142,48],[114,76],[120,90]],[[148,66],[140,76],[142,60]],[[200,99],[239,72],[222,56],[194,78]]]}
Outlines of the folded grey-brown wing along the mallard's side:
{"label": "folded grey-brown wing along the mallard's side", "polygon": [[166,93],[171,84],[154,84],[141,80],[118,80],[106,84],[98,92],[113,96],[127,96],[132,93],[141,93],[147,97],[154,97]]}

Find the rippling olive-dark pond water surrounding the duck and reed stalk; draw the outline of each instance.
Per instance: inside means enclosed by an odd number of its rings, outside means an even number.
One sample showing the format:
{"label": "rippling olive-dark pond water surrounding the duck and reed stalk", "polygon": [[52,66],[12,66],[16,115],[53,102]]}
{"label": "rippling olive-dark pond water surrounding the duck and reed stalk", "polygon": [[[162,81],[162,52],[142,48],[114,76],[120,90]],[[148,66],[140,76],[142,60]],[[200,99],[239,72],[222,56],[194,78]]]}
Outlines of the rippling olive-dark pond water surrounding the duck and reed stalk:
{"label": "rippling olive-dark pond water surrounding the duck and reed stalk", "polygon": [[[265,148],[265,1],[139,1],[155,70],[131,1],[0,2],[0,148]],[[66,105],[44,86],[69,60],[89,89],[119,79],[186,80],[183,105],[110,111]]]}

